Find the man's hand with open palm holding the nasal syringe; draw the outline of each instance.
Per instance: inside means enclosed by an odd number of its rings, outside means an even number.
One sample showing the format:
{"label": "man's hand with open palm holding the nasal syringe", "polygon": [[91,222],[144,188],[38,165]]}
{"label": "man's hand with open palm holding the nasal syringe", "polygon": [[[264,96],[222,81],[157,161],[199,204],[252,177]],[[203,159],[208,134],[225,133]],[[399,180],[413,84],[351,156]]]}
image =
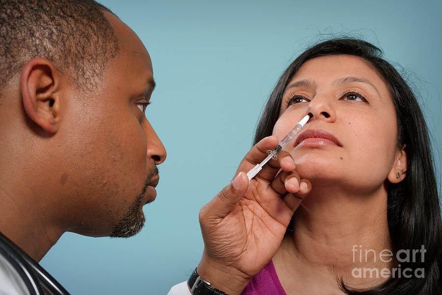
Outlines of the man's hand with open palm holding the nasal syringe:
{"label": "man's hand with open palm holding the nasal syringe", "polygon": [[272,259],[293,213],[311,190],[310,182],[300,179],[286,151],[269,161],[249,182],[246,172],[277,144],[275,136],[257,143],[239,165],[232,182],[199,213],[205,246],[197,272],[227,294],[240,294]]}

